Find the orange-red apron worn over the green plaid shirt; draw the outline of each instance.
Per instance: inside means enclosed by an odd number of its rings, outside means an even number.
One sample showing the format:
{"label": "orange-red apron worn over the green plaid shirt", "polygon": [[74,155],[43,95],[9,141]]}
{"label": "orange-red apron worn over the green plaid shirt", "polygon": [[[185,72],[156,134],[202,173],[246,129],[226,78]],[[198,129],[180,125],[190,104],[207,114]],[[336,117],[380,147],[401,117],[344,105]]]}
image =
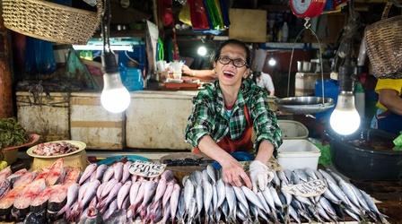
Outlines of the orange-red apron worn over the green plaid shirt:
{"label": "orange-red apron worn over the green plaid shirt", "polygon": [[[226,135],[217,143],[224,151],[232,153],[234,151],[249,151],[252,149],[253,142],[251,142],[251,136],[253,134],[253,124],[249,116],[249,109],[246,105],[244,105],[244,116],[246,116],[247,126],[240,138],[238,140],[232,140]],[[200,153],[198,147],[194,148],[193,152],[196,154]]]}

